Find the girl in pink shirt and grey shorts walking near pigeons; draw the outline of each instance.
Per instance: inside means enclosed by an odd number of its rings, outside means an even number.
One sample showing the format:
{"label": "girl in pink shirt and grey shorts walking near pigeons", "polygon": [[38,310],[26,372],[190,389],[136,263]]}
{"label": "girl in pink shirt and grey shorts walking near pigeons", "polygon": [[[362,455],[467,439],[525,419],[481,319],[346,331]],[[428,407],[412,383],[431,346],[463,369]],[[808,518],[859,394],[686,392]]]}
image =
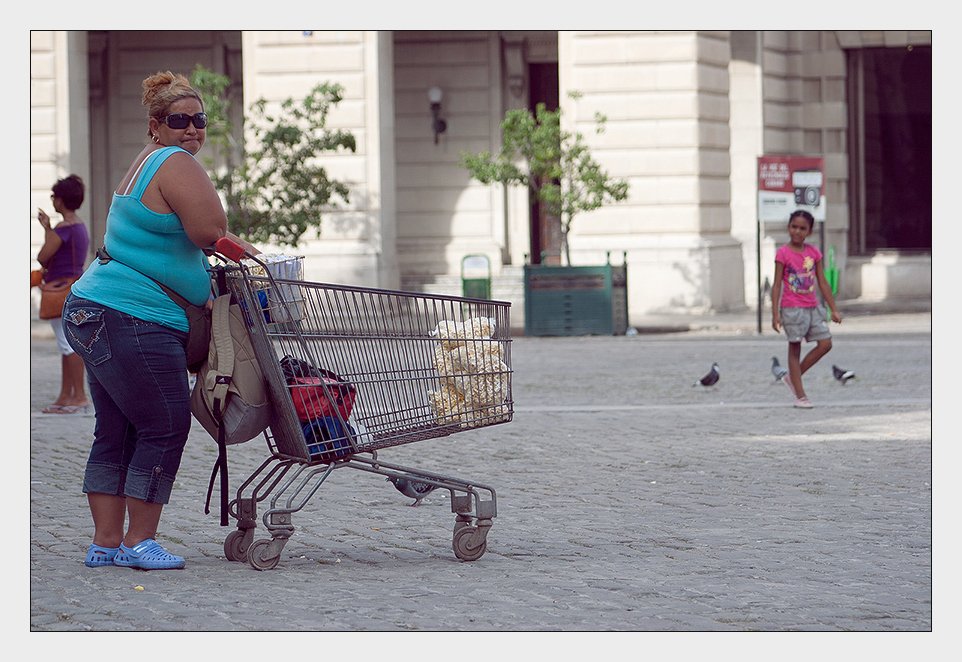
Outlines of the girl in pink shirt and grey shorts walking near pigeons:
{"label": "girl in pink shirt and grey shorts walking near pigeons", "polygon": [[[785,329],[788,336],[788,376],[783,381],[795,395],[795,406],[811,409],[805,395],[802,375],[832,349],[832,334],[828,330],[825,312],[818,306],[815,288],[832,311],[832,321],[841,323],[842,316],[835,308],[832,288],[825,279],[822,253],[805,240],[815,226],[815,219],[804,210],[797,210],[788,219],[789,243],[775,254],[775,285],[772,287],[772,328]],[[801,358],[802,339],[815,342],[805,358]]]}

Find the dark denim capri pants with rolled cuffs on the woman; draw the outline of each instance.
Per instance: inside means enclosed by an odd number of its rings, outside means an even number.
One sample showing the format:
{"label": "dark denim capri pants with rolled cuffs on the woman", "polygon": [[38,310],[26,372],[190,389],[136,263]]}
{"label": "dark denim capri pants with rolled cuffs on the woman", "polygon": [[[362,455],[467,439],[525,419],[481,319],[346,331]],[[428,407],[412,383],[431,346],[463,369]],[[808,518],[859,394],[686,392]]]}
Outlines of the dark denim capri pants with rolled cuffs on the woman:
{"label": "dark denim capri pants with rolled cuffs on the woman", "polygon": [[190,432],[187,334],[72,294],[62,319],[96,411],[84,493],[167,503]]}

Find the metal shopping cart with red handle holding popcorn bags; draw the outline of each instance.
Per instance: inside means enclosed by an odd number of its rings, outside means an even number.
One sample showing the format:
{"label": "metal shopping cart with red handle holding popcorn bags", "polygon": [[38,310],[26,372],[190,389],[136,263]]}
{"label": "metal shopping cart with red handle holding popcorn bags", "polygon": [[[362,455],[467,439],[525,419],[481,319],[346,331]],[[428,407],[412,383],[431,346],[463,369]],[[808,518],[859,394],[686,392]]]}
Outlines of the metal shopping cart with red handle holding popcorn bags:
{"label": "metal shopping cart with red handle holding popcorn bags", "polygon": [[[229,240],[216,252],[229,262],[215,267],[215,283],[244,311],[273,404],[270,456],[229,501],[237,528],[227,558],[277,566],[293,513],[351,468],[447,490],[454,554],[479,559],[494,489],[384,462],[378,451],[512,419],[511,304],[277,278]],[[257,506],[268,499],[270,538],[255,540]]]}

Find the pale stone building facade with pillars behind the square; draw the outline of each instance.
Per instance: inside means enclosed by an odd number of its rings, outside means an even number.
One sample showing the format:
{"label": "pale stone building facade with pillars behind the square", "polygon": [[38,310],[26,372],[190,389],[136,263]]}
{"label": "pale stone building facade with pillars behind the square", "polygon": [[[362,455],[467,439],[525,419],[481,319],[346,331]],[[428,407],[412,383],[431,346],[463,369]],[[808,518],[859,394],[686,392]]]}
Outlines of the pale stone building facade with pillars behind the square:
{"label": "pale stone building facade with pillars behind the square", "polygon": [[[505,110],[540,100],[629,182],[627,200],[576,219],[570,244],[573,264],[627,262],[630,319],[757,304],[787,238],[785,224],[757,222],[766,154],[824,160],[826,220],[813,240],[834,249],[839,298],[931,296],[931,196],[891,203],[906,205],[898,223],[882,206],[899,177],[930,192],[931,142],[894,166],[886,142],[924,143],[913,127],[925,122],[931,134],[930,32],[36,31],[31,209],[49,206],[58,178],[81,175],[98,245],[110,194],[145,139],[140,82],[196,64],[233,81],[237,135],[255,99],[344,86],[330,125],[358,148],[324,162],[350,183],[351,203],[323,210],[320,234],[296,249],[309,280],[460,293],[461,260],[481,254],[493,297],[515,303],[521,325],[522,265],[550,259],[554,238],[526,191],[472,181],[460,157],[495,151]],[[31,239],[35,256],[39,227]]]}

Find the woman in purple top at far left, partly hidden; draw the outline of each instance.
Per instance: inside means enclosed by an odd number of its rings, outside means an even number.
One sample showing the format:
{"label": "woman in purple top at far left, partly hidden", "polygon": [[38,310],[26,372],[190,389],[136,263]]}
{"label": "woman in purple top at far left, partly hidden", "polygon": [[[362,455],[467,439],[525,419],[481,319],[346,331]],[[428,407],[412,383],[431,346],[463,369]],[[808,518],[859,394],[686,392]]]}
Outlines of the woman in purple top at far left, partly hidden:
{"label": "woman in purple top at far left, partly hidden", "polygon": [[[37,220],[43,226],[44,241],[37,261],[45,270],[44,280],[77,279],[87,262],[90,236],[87,225],[77,215],[84,201],[84,183],[77,175],[69,175],[53,185],[50,200],[54,211],[63,217],[51,226],[50,217],[43,209],[37,210]],[[84,362],[67,343],[63,323],[59,317],[50,320],[61,356],[60,395],[53,404],[43,408],[45,414],[75,414],[86,412],[90,405],[84,391]]]}

